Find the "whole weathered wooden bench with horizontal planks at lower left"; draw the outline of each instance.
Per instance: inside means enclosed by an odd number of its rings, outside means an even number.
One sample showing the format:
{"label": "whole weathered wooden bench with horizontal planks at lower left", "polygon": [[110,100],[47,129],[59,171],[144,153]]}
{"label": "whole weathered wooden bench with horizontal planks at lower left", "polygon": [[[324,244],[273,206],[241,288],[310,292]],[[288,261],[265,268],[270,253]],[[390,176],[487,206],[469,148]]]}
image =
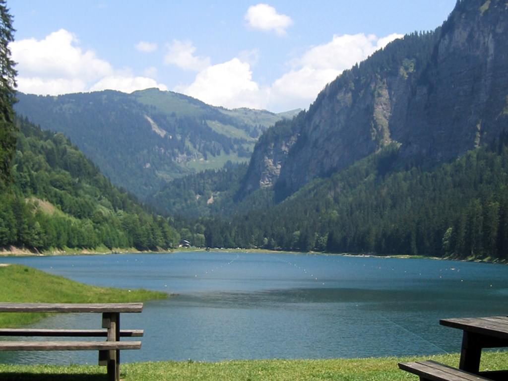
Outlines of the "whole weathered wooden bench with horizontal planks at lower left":
{"label": "whole weathered wooden bench with horizontal planks at lower left", "polygon": [[109,381],[120,379],[120,350],[141,348],[141,341],[119,341],[141,337],[143,330],[120,330],[120,312],[141,312],[143,303],[0,303],[0,312],[97,312],[105,329],[2,328],[0,336],[19,337],[105,337],[106,341],[0,341],[0,351],[99,351],[99,365],[107,366]]}

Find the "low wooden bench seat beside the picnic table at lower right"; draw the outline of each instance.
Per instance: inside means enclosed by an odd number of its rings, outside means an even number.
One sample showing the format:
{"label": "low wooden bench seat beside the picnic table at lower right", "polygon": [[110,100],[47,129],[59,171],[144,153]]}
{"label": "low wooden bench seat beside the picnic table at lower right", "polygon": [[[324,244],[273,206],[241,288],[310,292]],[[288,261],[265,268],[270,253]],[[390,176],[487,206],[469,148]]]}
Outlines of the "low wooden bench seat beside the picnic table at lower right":
{"label": "low wooden bench seat beside the picnic table at lower right", "polygon": [[419,375],[421,381],[492,381],[493,379],[440,364],[432,360],[399,363],[399,368]]}

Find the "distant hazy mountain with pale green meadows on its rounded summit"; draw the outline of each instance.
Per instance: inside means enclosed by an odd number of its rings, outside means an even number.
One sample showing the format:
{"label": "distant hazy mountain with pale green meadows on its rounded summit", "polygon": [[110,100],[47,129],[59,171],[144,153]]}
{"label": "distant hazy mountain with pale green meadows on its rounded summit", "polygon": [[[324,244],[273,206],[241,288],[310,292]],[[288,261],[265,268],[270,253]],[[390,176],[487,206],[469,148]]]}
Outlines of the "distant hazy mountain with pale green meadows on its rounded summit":
{"label": "distant hazy mountain with pale green meadows on its rounded summit", "polygon": [[19,115],[68,136],[114,184],[142,199],[171,179],[248,161],[268,126],[299,111],[227,110],[158,89],[17,98]]}

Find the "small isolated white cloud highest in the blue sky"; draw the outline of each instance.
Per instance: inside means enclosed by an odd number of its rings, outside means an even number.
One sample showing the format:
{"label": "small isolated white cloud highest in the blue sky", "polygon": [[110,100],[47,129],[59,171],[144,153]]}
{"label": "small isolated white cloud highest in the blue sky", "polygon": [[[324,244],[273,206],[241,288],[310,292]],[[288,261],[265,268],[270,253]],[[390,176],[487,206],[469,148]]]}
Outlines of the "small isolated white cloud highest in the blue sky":
{"label": "small isolated white cloud highest in the blue sky", "polygon": [[286,29],[293,24],[291,17],[277,13],[268,4],[258,4],[247,9],[245,20],[252,28],[265,31],[275,30],[279,36],[286,34]]}

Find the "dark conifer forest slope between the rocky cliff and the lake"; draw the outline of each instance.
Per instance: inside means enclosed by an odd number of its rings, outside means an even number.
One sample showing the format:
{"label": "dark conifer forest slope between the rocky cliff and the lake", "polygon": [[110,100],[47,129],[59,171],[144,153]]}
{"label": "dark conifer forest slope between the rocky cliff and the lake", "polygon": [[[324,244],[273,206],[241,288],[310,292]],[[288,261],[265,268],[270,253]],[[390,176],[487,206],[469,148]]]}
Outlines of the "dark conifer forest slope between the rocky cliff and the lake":
{"label": "dark conifer forest slope between the rocky cliff and the lake", "polygon": [[432,170],[397,168],[388,146],[272,208],[203,218],[206,244],[506,261],[507,142]]}

